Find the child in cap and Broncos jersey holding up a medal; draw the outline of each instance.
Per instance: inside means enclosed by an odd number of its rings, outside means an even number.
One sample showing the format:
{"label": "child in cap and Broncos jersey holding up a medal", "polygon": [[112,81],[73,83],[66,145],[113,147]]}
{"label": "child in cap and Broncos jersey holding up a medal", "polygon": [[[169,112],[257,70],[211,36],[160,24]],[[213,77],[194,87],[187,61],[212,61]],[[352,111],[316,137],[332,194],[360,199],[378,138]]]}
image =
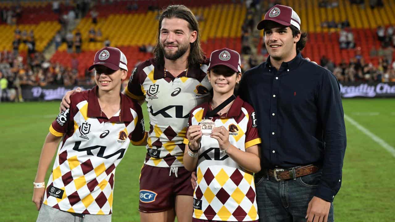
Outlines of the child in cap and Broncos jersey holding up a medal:
{"label": "child in cap and Broncos jersey holding up a medal", "polygon": [[[192,109],[184,139],[184,166],[198,176],[192,221],[258,221],[252,173],[261,168],[261,139],[254,109],[233,95],[241,79],[239,53],[214,51],[208,70],[213,98]],[[207,122],[214,123],[212,132],[203,132]]]}

